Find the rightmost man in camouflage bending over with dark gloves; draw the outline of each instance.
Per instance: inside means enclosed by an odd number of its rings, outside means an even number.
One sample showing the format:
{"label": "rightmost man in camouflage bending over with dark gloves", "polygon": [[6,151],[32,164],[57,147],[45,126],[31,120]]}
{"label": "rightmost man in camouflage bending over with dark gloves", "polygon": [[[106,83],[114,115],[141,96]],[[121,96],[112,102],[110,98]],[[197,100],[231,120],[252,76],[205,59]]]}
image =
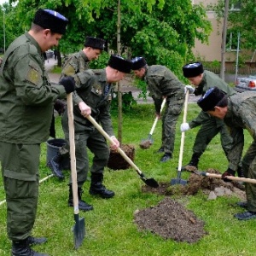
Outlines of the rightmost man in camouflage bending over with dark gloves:
{"label": "rightmost man in camouflage bending over with dark gloves", "polygon": [[[226,96],[224,91],[213,87],[207,90],[205,96],[198,101],[203,111],[218,119],[224,119],[233,138],[229,151],[229,167],[222,175],[235,176],[242,150],[244,147],[243,129],[247,129],[253,137],[253,143],[247,149],[241,164],[245,177],[256,179],[256,94],[251,91],[242,92],[233,96]],[[247,212],[236,213],[235,217],[241,220],[256,218],[256,184],[246,183],[247,202],[238,205],[247,209]]]}

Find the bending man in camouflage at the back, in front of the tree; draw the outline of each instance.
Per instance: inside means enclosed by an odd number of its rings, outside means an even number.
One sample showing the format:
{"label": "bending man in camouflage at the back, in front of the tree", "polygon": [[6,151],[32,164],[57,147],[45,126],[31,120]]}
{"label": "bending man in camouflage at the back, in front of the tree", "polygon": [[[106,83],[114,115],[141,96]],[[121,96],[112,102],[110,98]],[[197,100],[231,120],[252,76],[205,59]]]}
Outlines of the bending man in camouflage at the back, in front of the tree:
{"label": "bending man in camouflage at the back, in front of the tree", "polygon": [[[166,67],[160,65],[148,66],[143,57],[131,60],[137,78],[144,79],[154,100],[155,114],[160,119],[160,106],[166,98],[166,111],[162,116],[162,143],[158,153],[164,153],[160,162],[172,159],[176,123],[183,109],[185,87],[177,77]],[[190,86],[190,90],[193,88]],[[193,90],[194,91],[194,90]]]}

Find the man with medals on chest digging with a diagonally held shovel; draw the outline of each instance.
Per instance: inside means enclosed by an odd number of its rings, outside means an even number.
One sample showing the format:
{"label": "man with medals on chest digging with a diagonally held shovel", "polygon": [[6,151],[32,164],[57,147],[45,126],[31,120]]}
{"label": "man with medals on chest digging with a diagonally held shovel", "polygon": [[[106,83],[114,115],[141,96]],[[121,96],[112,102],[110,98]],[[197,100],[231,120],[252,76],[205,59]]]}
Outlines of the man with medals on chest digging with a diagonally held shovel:
{"label": "man with medals on chest digging with a diagonally held shovel", "polygon": [[[109,113],[113,97],[113,84],[124,79],[125,73],[131,72],[131,61],[126,61],[118,55],[111,55],[108,67],[102,70],[87,70],[73,75],[77,93],[73,97],[75,154],[78,175],[79,209],[90,211],[93,207],[82,200],[83,185],[86,181],[89,159],[87,148],[94,154],[90,168],[90,195],[111,198],[114,192],[102,184],[104,167],[108,164],[109,147],[106,139],[96,130],[86,116],[90,115],[102,125],[104,131],[113,138],[113,149],[119,147],[119,141],[113,135],[113,126]],[[67,142],[68,120],[67,111],[62,117],[62,127]],[[69,142],[68,142],[69,144]],[[69,181],[68,206],[73,207],[72,179]]]}

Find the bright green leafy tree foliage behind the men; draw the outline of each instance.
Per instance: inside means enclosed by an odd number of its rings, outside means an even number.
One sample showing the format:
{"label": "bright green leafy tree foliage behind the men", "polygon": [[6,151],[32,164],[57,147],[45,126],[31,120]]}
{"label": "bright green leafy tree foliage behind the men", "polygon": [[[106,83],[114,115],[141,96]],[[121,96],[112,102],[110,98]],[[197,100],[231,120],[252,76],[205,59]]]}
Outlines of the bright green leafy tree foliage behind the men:
{"label": "bright green leafy tree foliage behind the men", "polygon": [[[60,49],[81,49],[86,35],[105,38],[116,52],[117,1],[113,0],[22,0],[15,13],[29,26],[38,8],[55,9],[70,24]],[[202,5],[190,0],[122,0],[121,44],[123,52],[144,55],[149,65],[161,64],[179,76],[186,61],[194,59],[195,38],[207,43],[211,24]]]}

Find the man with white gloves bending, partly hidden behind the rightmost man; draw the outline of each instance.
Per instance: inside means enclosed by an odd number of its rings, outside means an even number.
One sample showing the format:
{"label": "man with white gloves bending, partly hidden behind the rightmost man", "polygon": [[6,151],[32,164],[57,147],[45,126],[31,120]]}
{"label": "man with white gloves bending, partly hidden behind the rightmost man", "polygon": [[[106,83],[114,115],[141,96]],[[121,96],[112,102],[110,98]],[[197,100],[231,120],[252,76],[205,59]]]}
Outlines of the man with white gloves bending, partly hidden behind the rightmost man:
{"label": "man with white gloves bending, partly hidden behind the rightmost man", "polygon": [[[220,79],[218,75],[204,70],[201,62],[184,65],[183,75],[189,79],[191,84],[195,85],[195,96],[203,96],[208,89],[214,86],[223,90],[228,96],[236,94],[236,91],[226,84],[224,80]],[[226,156],[229,153],[232,143],[232,138],[227,131],[226,125],[224,125],[224,121],[211,117],[208,113],[204,113],[203,111],[189,123],[183,123],[181,125],[181,131],[188,131],[198,125],[201,125],[201,128],[195,137],[191,160],[187,166],[183,166],[183,169],[187,171],[195,171],[195,169],[197,169],[201,154],[205,152],[207,145],[218,133],[220,133],[221,145]],[[239,176],[242,176],[241,168],[239,168],[238,171]]]}

